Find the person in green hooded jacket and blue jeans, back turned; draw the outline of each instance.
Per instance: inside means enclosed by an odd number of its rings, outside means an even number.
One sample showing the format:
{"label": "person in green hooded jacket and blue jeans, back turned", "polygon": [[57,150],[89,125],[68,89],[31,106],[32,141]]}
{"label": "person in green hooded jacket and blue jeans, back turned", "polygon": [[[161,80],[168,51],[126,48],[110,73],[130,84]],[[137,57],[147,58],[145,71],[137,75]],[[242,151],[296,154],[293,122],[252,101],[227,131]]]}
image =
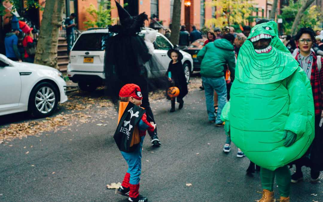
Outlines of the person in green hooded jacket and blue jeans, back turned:
{"label": "person in green hooded jacket and blue jeans, back turned", "polygon": [[[226,83],[224,78],[224,65],[229,66],[231,77],[234,77],[234,36],[226,34],[224,38],[207,43],[197,54],[201,62],[201,77],[205,89],[206,109],[209,122],[215,122],[216,126],[224,126],[221,121],[221,111],[227,100]],[[214,90],[218,94],[219,107],[217,115],[214,113]]]}

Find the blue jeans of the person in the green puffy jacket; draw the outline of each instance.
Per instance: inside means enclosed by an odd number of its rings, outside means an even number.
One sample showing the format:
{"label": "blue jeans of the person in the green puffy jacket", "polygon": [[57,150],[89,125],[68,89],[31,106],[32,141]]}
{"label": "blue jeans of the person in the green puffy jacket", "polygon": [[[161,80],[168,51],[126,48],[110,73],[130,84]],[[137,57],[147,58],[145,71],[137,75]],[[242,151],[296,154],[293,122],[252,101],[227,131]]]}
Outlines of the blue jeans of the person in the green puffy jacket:
{"label": "blue jeans of the person in the green puffy jacket", "polygon": [[218,113],[216,116],[215,123],[221,123],[221,112],[226,103],[226,84],[224,77],[219,78],[206,78],[202,77],[204,91],[205,91],[205,101],[206,101],[206,110],[207,114],[209,115],[209,121],[215,120],[215,113],[214,113],[214,90],[218,94],[219,97],[219,106],[218,106]]}

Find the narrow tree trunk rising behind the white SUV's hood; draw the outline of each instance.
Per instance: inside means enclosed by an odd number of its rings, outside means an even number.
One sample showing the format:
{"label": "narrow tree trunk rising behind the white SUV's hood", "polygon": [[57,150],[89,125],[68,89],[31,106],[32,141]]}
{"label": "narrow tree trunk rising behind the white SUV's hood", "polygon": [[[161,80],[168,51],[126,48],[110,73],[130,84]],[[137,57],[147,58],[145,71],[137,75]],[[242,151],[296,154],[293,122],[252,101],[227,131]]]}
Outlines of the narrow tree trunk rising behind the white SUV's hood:
{"label": "narrow tree trunk rising behind the white SUV's hood", "polygon": [[180,29],[181,29],[181,7],[182,0],[174,0],[173,5],[173,18],[172,18],[172,30],[170,41],[172,44],[178,45],[180,39]]}

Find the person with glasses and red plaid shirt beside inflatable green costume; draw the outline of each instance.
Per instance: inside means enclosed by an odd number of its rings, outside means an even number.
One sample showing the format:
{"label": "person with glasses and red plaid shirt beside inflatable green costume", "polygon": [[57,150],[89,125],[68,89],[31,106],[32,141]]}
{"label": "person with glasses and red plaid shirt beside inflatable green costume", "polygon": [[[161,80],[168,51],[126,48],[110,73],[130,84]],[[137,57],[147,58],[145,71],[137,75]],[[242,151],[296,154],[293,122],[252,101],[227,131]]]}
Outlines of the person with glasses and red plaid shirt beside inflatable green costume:
{"label": "person with glasses and red plaid shirt beside inflatable green costume", "polygon": [[311,168],[311,181],[317,182],[320,171],[323,170],[323,132],[322,127],[320,126],[320,120],[323,118],[323,71],[321,69],[323,59],[321,56],[317,56],[311,49],[315,43],[315,32],[311,27],[300,28],[295,36],[295,40],[299,47],[295,59],[305,71],[312,86],[315,110],[315,137],[311,147],[307,150],[307,153],[304,154],[302,158],[292,163],[296,165],[296,173],[291,176],[291,182],[297,183],[303,179],[301,170],[303,165]]}

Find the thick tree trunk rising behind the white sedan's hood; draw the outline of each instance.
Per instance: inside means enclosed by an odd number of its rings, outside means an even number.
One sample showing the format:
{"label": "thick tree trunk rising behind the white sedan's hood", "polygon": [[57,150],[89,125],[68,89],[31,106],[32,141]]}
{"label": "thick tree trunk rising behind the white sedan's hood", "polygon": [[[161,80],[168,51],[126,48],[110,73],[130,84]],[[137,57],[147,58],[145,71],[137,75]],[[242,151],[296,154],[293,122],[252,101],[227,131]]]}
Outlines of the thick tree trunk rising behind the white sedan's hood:
{"label": "thick tree trunk rising behind the white sedan's hood", "polygon": [[64,7],[65,0],[46,1],[34,63],[47,65],[58,69],[58,33],[59,28],[62,26],[62,14]]}

